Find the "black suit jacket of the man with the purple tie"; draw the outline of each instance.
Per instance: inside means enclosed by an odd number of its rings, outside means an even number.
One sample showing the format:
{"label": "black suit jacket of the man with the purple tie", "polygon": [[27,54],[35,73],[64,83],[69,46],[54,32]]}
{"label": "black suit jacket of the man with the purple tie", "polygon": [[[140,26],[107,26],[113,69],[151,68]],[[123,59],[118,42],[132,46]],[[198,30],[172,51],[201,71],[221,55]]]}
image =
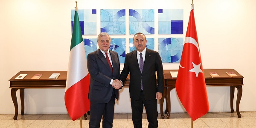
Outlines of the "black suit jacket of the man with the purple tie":
{"label": "black suit jacket of the man with the purple tie", "polygon": [[[157,80],[155,75],[156,71]],[[143,94],[145,100],[155,99],[157,92],[163,93],[163,65],[158,52],[146,48],[142,73],[140,73],[140,67],[137,59],[137,50],[127,53],[125,56],[125,65],[119,80],[124,83],[129,72],[129,91],[131,99],[139,99],[141,80],[143,83]]]}

